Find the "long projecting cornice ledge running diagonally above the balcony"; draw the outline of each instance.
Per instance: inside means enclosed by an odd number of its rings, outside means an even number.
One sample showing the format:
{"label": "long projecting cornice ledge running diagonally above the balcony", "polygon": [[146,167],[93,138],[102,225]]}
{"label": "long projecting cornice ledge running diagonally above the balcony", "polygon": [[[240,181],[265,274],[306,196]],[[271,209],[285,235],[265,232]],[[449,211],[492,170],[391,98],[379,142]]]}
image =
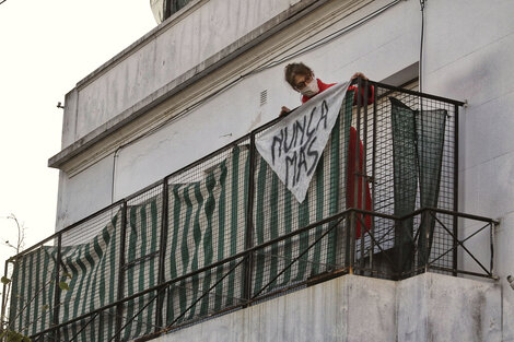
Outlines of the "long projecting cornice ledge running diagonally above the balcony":
{"label": "long projecting cornice ledge running diagonally above the balcony", "polygon": [[[192,2],[190,8],[201,5],[202,1]],[[312,36],[335,22],[362,9],[373,0],[303,0],[289,10],[278,14],[258,28],[240,38],[229,47],[202,63],[196,66],[180,76],[171,81],[165,86],[147,96],[132,107],[124,110],[106,123],[100,126],[83,138],[77,140],[61,152],[50,157],[49,167],[60,168],[68,176],[73,176],[105,156],[115,153],[120,146],[127,144],[138,137],[151,131],[155,127],[173,120],[174,117],[187,110],[191,104],[196,104],[209,97],[218,89],[212,84],[223,87],[256,68],[273,60],[285,51],[290,51],[299,43],[304,42],[306,36]],[[314,13],[316,9],[326,5],[327,9]],[[306,15],[312,20],[302,22],[301,27],[293,27],[294,23]],[[186,15],[186,14],[184,14]],[[173,20],[173,16],[168,20]],[[165,30],[166,23],[156,30]],[[119,54],[115,59],[126,58],[142,46],[144,39],[151,39],[156,32],[152,31],[135,43],[131,47]],[[256,48],[258,46],[258,48]],[[91,78],[97,78],[108,68],[93,72],[81,81],[91,82]],[[100,144],[102,142],[102,144]]]}

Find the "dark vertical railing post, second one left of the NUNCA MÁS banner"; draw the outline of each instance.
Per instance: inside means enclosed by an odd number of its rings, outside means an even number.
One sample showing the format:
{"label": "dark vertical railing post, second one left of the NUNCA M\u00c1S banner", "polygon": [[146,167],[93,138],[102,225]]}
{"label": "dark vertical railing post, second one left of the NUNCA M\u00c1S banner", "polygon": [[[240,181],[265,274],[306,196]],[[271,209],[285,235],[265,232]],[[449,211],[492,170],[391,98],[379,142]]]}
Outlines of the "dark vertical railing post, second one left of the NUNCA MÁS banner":
{"label": "dark vertical railing post, second one left of the NUNCA M\u00c1S banner", "polygon": [[[161,241],[159,245],[159,278],[157,284],[161,285],[164,282],[164,258],[166,256],[166,241],[167,241],[167,224],[168,224],[168,184],[167,177],[163,180],[163,192],[162,192],[162,220],[161,220]],[[157,305],[155,307],[155,332],[161,330],[163,326],[163,303],[164,303],[164,288],[159,290]]]}

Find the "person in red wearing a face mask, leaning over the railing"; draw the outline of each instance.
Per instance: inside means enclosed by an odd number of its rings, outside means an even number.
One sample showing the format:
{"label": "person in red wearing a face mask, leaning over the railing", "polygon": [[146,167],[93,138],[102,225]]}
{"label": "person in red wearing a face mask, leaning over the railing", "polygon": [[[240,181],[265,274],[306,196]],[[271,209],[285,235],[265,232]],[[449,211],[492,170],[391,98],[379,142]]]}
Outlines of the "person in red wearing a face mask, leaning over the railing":
{"label": "person in red wearing a face mask, leaning over the railing", "polygon": [[[322,80],[316,79],[314,75],[314,71],[305,66],[304,63],[291,63],[285,66],[284,69],[284,76],[285,81],[291,85],[291,87],[302,94],[302,104],[306,103],[317,94],[326,91],[330,86],[335,85],[336,83],[324,83]],[[351,80],[355,80],[357,78],[361,78],[363,80],[367,80],[367,78],[362,72],[357,72],[353,74]],[[348,87],[349,91],[354,92],[353,97],[353,105],[355,105],[359,101],[359,95],[361,96],[362,103],[364,103],[364,91],[359,91],[357,85],[350,85]],[[374,87],[370,84],[367,87],[367,105],[373,103],[374,98]],[[287,116],[291,109],[285,106],[282,106],[280,116]],[[363,146],[362,141],[359,140],[359,154],[355,155],[357,150],[357,141],[358,134],[355,128],[350,128],[350,141],[348,145],[348,170],[347,170],[347,189],[350,191],[346,191],[347,193],[347,208],[357,208],[361,210],[372,210],[371,203],[371,192],[370,192],[370,184],[367,181],[367,177],[364,175],[364,167],[363,167]],[[359,184],[358,184],[358,199],[355,203],[355,196],[354,196],[354,187],[355,187],[355,175],[359,176]],[[362,199],[362,189],[363,180],[365,181],[365,200],[363,203]],[[371,227],[371,216],[365,215],[358,215],[361,220],[364,221],[365,229],[370,229]],[[355,238],[361,237],[361,221],[357,220],[357,227],[355,227]]]}

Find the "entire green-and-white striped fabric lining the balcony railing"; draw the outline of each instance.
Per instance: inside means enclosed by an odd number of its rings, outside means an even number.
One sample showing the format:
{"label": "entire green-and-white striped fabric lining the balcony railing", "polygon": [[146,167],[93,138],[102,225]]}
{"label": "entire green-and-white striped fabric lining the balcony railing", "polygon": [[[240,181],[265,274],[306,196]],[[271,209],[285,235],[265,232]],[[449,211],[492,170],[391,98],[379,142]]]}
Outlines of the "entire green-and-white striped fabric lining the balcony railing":
{"label": "entire green-and-white striped fabric lining the balcony railing", "polygon": [[[348,94],[338,122],[307,191],[299,203],[267,163],[256,154],[253,240],[254,246],[320,221],[344,209],[346,154],[351,105]],[[171,184],[167,197],[165,281],[184,276],[245,250],[249,189],[249,149],[238,145],[205,172],[201,180]],[[124,296],[157,284],[162,193],[132,200],[127,207]],[[91,312],[117,299],[121,211],[113,215],[92,240],[62,248],[59,322]],[[327,271],[342,257],[336,253],[343,238],[336,229],[316,244],[270,286],[262,290],[292,259],[300,256],[331,224],[259,250],[253,260],[254,295],[304,281]],[[89,227],[94,229],[94,227]],[[49,328],[57,250],[43,247],[23,256],[13,274],[10,319],[27,334]],[[164,296],[163,322],[178,325],[243,304],[243,258],[173,283]],[[67,273],[71,276],[67,276]],[[46,284],[46,287],[45,287]],[[124,306],[121,339],[130,340],[155,330],[156,293]],[[30,299],[33,298],[33,299]],[[144,308],[144,306],[148,307]],[[144,308],[144,309],[143,309]],[[43,314],[43,315],[42,315]],[[131,320],[133,318],[133,320]],[[84,329],[82,329],[84,328]],[[116,308],[75,322],[61,330],[61,340],[108,341],[116,330]]]}

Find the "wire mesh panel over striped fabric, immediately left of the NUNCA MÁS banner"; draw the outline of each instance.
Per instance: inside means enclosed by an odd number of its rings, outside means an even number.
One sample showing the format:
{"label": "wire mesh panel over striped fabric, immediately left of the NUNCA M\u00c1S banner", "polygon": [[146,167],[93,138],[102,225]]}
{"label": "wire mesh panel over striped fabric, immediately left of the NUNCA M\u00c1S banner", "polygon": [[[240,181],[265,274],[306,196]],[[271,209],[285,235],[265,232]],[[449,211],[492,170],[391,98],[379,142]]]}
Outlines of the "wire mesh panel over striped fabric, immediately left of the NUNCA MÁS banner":
{"label": "wire mesh panel over striped fabric, immediately left of the NUNCA M\u00c1S banner", "polygon": [[[196,272],[244,250],[248,158],[247,142],[242,141],[170,179],[165,280]],[[213,306],[234,305],[243,296],[243,269],[230,271],[234,262],[172,284],[166,292],[165,323],[194,319],[209,311],[206,300],[212,298],[207,292],[213,284],[214,293],[222,293]],[[220,282],[229,271],[231,274]],[[191,290],[198,293],[191,295]],[[203,299],[197,300],[203,294]],[[183,311],[186,309],[187,314]]]}

